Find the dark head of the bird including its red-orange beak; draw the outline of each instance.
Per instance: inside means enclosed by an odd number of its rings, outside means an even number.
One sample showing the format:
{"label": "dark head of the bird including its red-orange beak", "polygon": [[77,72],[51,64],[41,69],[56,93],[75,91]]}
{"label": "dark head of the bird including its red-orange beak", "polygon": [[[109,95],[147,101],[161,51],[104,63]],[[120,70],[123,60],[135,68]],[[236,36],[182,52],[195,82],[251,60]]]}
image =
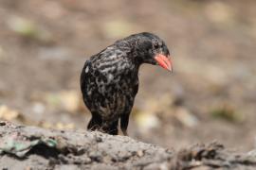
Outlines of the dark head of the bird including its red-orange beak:
{"label": "dark head of the bird including its red-orange beak", "polygon": [[143,32],[133,35],[136,39],[135,53],[140,63],[159,65],[166,70],[173,71],[169,49],[155,34]]}

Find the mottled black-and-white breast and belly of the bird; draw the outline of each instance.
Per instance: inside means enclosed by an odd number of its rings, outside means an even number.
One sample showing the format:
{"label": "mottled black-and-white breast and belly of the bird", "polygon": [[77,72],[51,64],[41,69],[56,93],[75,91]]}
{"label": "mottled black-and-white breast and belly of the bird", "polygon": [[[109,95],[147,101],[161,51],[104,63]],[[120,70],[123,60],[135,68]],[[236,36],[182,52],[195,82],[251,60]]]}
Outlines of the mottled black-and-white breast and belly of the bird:
{"label": "mottled black-and-white breast and belly of the bird", "polygon": [[[115,61],[115,60],[114,60]],[[92,63],[84,67],[84,101],[104,119],[119,117],[133,106],[137,69],[129,62]]]}

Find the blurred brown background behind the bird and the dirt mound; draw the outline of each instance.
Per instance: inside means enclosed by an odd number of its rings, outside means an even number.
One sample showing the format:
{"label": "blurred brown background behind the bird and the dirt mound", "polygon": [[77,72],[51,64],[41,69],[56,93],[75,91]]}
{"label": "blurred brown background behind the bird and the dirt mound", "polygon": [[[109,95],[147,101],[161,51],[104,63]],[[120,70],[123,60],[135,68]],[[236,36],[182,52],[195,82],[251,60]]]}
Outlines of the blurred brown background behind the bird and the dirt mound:
{"label": "blurred brown background behind the bird and the dirt mound", "polygon": [[174,74],[143,65],[129,135],[179,149],[256,146],[256,1],[0,0],[0,119],[85,128],[85,59],[132,33],[161,37]]}

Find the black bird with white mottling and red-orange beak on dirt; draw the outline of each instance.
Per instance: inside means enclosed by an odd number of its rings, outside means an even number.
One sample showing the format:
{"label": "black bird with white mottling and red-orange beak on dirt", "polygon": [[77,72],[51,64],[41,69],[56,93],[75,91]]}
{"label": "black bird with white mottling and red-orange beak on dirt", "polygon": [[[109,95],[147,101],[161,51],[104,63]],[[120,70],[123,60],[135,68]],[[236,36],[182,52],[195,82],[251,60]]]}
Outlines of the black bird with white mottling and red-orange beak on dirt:
{"label": "black bird with white mottling and red-orange beak on dirt", "polygon": [[[129,116],[138,91],[141,64],[159,65],[173,72],[166,43],[149,32],[130,35],[87,59],[82,68],[82,99],[91,112],[88,130],[128,135]],[[119,123],[120,121],[120,123]]]}

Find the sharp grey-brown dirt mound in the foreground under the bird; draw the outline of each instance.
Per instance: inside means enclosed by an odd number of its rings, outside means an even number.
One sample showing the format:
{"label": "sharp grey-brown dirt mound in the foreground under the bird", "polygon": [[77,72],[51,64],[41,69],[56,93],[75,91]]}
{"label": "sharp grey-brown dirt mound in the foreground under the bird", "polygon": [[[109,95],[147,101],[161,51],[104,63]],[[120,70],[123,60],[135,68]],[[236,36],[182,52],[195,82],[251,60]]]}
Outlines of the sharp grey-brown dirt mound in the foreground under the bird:
{"label": "sharp grey-brown dirt mound in the foreground under the bird", "polygon": [[0,121],[1,169],[255,169],[256,152],[236,153],[218,143],[180,151],[98,131],[56,130]]}

